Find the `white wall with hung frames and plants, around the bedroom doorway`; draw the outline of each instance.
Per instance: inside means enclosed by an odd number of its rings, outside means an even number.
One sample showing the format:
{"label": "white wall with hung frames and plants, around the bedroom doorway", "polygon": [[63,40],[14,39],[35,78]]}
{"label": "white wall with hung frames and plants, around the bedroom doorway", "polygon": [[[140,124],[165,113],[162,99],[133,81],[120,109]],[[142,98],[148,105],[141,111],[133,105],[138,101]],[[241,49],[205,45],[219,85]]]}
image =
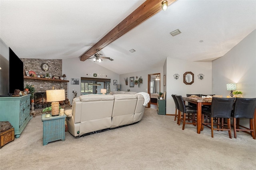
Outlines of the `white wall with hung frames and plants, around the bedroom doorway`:
{"label": "white wall with hung frames and plants, around the bedroom doorway", "polygon": [[[121,84],[121,91],[127,91],[130,89],[130,91],[135,92],[146,92],[148,93],[148,74],[154,74],[154,73],[160,73],[160,81],[161,81],[161,87],[160,90],[163,90],[163,67],[156,67],[148,70],[133,72],[133,73],[126,73],[120,75],[120,84]],[[136,80],[136,76],[142,77],[143,83],[138,87],[138,85],[134,85],[134,87],[130,87],[129,79],[130,77],[134,77],[134,80]],[[124,77],[128,77],[128,85],[125,85]],[[119,83],[118,83],[119,84]]]}

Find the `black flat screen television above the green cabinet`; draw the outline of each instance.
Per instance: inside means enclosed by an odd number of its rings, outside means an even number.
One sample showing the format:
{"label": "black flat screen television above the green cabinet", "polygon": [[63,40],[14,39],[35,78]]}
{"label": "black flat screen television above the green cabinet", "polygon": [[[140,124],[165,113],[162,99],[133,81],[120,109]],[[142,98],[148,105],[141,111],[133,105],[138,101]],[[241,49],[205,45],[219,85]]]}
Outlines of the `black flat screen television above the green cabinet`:
{"label": "black flat screen television above the green cabinet", "polygon": [[9,94],[15,89],[24,90],[24,69],[22,60],[9,47]]}

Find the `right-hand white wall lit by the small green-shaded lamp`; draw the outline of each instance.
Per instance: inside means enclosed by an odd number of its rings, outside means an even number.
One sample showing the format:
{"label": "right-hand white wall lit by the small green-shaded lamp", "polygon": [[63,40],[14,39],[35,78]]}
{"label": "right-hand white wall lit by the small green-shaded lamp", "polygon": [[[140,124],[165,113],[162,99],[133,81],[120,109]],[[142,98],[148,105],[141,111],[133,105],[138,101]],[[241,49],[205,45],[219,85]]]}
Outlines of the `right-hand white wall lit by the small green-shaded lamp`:
{"label": "right-hand white wall lit by the small green-shaded lamp", "polygon": [[236,83],[243,97],[256,97],[256,30],[223,57],[212,62],[212,92],[228,96],[226,84]]}

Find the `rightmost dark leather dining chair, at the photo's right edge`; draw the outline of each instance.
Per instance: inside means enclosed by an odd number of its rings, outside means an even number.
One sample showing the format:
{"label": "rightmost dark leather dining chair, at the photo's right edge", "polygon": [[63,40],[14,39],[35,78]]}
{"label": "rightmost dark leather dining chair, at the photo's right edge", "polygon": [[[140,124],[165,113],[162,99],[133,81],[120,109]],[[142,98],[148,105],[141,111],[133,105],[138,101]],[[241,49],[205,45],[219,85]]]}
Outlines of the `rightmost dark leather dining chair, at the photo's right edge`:
{"label": "rightmost dark leather dining chair, at the photo's right edge", "polygon": [[[231,112],[231,117],[234,117],[234,137],[236,138],[236,131],[244,131],[251,134],[253,139],[255,137],[254,129],[254,111],[256,109],[256,98],[236,98],[234,103],[234,110]],[[250,119],[250,128],[239,125],[239,119]],[[241,128],[240,128],[241,127]]]}

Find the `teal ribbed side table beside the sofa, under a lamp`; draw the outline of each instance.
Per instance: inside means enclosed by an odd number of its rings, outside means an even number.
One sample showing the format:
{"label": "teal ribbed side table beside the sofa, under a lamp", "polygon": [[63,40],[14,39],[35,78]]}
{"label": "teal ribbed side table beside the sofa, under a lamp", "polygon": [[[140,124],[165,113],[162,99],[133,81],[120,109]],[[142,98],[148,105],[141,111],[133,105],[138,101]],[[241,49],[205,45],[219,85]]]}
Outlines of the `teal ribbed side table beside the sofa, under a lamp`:
{"label": "teal ribbed side table beside the sofa, under a lamp", "polygon": [[56,140],[65,140],[65,118],[64,116],[52,116],[46,118],[42,115],[43,122],[43,145]]}

